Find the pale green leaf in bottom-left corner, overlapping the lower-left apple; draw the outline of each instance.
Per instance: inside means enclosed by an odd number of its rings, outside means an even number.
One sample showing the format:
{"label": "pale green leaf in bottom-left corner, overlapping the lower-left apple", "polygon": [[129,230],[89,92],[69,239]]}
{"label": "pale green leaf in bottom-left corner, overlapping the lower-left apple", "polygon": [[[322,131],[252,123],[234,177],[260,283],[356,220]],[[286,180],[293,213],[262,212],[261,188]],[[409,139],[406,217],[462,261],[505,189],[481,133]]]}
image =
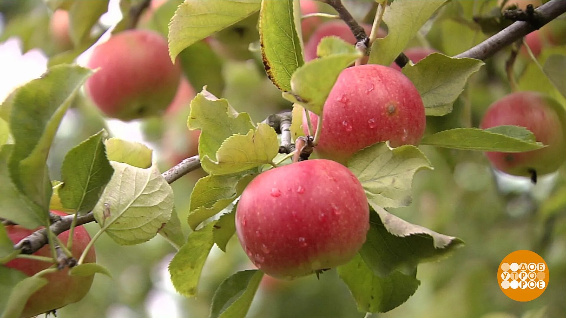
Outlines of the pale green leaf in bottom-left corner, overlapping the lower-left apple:
{"label": "pale green leaf in bottom-left corner, overlapping the lower-left apple", "polygon": [[47,285],[48,282],[45,278],[32,276],[17,283],[14,289],[12,289],[6,308],[0,318],[18,318],[24,310],[29,296]]}

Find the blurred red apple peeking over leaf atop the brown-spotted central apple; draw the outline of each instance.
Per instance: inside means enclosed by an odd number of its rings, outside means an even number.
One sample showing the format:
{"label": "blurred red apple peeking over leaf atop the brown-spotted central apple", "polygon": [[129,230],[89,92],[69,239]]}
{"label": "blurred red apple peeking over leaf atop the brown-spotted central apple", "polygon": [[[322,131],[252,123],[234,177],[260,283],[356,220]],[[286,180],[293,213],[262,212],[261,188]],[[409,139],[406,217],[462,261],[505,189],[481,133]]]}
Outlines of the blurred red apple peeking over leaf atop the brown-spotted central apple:
{"label": "blurred red apple peeking over leaf atop the brown-spotted central apple", "polygon": [[[371,32],[371,25],[370,24],[361,24],[362,27],[366,30],[367,35],[370,35]],[[312,59],[316,58],[316,47],[319,45],[320,40],[322,40],[325,36],[337,36],[340,37],[342,40],[350,43],[355,44],[356,40],[353,33],[346,24],[342,20],[333,20],[329,22],[325,22],[320,24],[319,28],[312,33],[311,37],[308,39],[307,43],[305,44],[305,61],[311,61]],[[379,30],[378,37],[384,37],[385,31]]]}

